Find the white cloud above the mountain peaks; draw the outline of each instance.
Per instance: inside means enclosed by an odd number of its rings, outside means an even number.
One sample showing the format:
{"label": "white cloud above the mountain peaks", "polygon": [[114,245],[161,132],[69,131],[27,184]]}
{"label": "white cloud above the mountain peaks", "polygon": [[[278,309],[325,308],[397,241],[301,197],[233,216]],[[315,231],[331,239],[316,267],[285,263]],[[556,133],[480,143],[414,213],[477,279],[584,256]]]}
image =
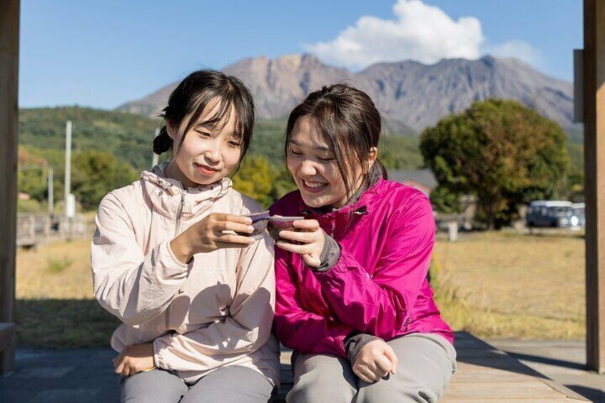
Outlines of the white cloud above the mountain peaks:
{"label": "white cloud above the mountain peaks", "polygon": [[303,44],[305,51],[326,63],[357,70],[379,61],[415,60],[432,64],[442,58],[475,59],[489,51],[534,63],[539,53],[522,41],[487,46],[481,22],[473,16],[454,21],[421,0],[398,0],[395,19],[362,16],[336,39]]}

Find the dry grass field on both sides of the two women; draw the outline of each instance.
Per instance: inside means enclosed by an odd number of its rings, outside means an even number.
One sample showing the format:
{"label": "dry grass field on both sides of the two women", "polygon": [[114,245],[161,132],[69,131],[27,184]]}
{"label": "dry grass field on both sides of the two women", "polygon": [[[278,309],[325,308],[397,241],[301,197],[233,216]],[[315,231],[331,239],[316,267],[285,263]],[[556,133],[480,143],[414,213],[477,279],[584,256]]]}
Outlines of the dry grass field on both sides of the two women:
{"label": "dry grass field on both sides of the two women", "polygon": [[[90,240],[17,253],[19,346],[107,345],[118,320],[93,300]],[[437,302],[454,330],[482,337],[584,337],[584,239],[575,233],[438,237]]]}

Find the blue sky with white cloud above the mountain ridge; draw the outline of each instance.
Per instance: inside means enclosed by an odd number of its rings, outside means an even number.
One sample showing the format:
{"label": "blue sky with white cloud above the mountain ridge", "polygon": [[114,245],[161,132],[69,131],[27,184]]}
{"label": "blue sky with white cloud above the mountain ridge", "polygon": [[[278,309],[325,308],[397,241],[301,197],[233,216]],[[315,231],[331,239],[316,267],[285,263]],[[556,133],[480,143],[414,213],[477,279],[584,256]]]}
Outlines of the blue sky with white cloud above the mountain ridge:
{"label": "blue sky with white cloud above the mountain ridge", "polygon": [[305,52],[353,71],[495,53],[571,81],[582,1],[21,0],[20,46],[27,108],[115,108],[195,68]]}

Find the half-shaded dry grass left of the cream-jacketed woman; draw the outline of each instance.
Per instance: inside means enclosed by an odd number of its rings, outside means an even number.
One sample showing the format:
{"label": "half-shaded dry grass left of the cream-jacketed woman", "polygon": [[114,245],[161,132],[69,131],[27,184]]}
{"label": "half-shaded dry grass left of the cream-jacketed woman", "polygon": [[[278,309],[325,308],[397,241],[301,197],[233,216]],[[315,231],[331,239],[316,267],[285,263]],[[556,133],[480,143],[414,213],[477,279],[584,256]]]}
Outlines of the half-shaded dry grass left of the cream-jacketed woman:
{"label": "half-shaded dry grass left of the cream-jacketed woman", "polygon": [[90,239],[18,250],[17,345],[107,346],[119,321],[93,299]]}

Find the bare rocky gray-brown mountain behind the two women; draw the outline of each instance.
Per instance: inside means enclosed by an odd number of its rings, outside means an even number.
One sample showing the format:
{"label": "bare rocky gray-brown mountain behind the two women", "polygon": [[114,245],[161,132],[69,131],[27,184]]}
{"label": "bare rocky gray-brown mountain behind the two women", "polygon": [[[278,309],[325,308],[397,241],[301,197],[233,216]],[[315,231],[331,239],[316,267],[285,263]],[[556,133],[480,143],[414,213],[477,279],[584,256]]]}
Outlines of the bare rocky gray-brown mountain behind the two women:
{"label": "bare rocky gray-brown mountain behind the two women", "polygon": [[[245,58],[223,71],[250,87],[260,118],[282,118],[311,91],[345,82],[366,91],[385,118],[416,133],[487,98],[514,99],[565,128],[578,127],[573,122],[571,83],[546,76],[514,58],[444,59],[430,66],[415,61],[375,63],[352,73],[305,54]],[[118,110],[155,115],[175,87],[172,83]]]}

